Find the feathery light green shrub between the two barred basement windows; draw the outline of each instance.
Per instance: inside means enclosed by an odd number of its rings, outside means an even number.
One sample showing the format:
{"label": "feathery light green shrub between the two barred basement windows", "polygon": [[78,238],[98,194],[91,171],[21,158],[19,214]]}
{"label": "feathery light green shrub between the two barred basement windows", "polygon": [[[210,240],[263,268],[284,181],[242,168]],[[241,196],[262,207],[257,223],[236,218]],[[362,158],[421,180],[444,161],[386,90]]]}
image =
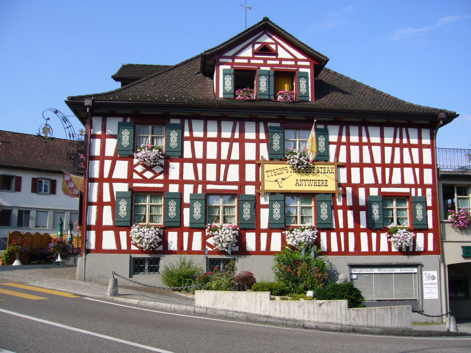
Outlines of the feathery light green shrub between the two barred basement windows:
{"label": "feathery light green shrub between the two barred basement windows", "polygon": [[179,262],[172,261],[163,266],[162,282],[168,287],[187,287],[196,284],[196,278],[203,271],[195,264],[195,260],[180,256]]}

